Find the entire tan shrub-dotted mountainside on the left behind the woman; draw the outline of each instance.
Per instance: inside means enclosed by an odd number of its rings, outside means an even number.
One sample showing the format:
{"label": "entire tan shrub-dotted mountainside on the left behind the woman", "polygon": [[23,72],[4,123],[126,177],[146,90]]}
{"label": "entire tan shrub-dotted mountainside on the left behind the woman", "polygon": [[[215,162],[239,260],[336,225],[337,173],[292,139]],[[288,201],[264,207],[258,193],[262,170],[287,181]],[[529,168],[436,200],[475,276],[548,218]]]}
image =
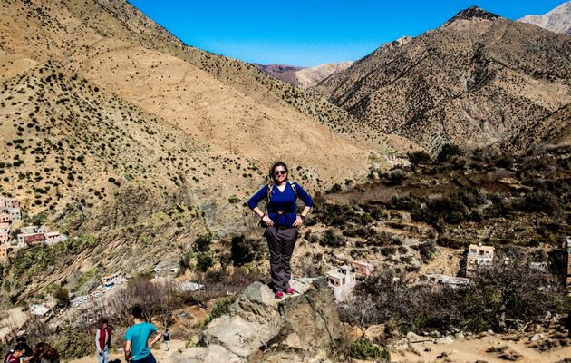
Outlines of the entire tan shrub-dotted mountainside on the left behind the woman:
{"label": "entire tan shrub-dotted mountainside on the left behind the woman", "polygon": [[96,281],[177,264],[198,234],[250,228],[242,202],[270,162],[315,191],[394,151],[344,110],[184,46],[124,1],[6,0],[0,14],[0,193],[71,237],[13,256],[0,300],[78,270]]}

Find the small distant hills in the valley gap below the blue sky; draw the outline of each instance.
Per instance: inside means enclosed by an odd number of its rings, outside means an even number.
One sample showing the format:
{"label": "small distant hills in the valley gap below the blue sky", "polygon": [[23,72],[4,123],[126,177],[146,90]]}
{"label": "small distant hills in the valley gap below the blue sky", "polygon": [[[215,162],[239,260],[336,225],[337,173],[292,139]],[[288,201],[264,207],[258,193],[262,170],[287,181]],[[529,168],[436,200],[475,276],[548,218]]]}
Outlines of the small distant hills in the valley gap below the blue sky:
{"label": "small distant hills in the valley gap below the blue sky", "polygon": [[309,88],[322,82],[332,74],[349,68],[353,62],[329,63],[315,67],[296,67],[282,64],[254,64],[256,67],[285,83],[301,88]]}

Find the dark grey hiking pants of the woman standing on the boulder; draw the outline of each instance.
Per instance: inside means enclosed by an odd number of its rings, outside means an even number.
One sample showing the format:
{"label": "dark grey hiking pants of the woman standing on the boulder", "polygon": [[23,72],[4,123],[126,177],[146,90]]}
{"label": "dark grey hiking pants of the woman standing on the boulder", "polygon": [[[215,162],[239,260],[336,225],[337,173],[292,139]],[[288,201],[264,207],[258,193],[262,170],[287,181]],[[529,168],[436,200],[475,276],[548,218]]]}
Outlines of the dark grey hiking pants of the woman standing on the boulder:
{"label": "dark grey hiking pants of the woman standing on the boulder", "polygon": [[292,270],[289,260],[294,253],[297,234],[295,227],[267,227],[264,233],[270,250],[270,271],[276,292],[290,288]]}

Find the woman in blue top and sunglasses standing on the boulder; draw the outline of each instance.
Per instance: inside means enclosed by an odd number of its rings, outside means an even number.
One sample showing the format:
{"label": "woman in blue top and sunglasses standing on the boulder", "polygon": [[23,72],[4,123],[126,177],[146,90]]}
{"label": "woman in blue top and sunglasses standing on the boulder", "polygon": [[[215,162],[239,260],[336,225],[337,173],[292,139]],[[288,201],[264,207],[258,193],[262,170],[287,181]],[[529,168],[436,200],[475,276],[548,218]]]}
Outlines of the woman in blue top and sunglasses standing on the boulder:
{"label": "woman in blue top and sunglasses standing on the boulder", "polygon": [[[304,224],[307,213],[314,205],[311,196],[296,182],[288,178],[288,169],[284,162],[276,162],[269,172],[269,182],[256,192],[247,202],[248,207],[261,219],[266,228],[267,245],[270,250],[270,271],[276,299],[284,293],[293,294],[295,289],[289,285],[292,276],[290,260],[295,248],[298,228]],[[301,199],[304,210],[297,214],[295,201]],[[266,199],[265,213],[257,204]]]}

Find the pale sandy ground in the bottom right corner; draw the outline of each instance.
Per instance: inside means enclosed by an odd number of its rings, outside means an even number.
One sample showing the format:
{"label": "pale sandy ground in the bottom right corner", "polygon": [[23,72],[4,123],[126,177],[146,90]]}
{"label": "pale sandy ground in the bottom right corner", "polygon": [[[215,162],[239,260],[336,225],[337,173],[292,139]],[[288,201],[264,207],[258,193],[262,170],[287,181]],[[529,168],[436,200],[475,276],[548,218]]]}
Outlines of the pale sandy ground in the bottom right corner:
{"label": "pale sandy ground in the bottom right corner", "polygon": [[412,347],[415,348],[416,352],[391,352],[391,358],[393,362],[398,363],[431,363],[444,361],[450,363],[473,363],[478,360],[488,363],[499,363],[506,362],[507,360],[498,358],[496,353],[488,353],[486,350],[504,346],[508,346],[523,356],[517,360],[518,363],[556,363],[564,358],[571,358],[571,347],[556,348],[541,353],[536,349],[528,348],[523,340],[503,340],[499,336],[488,336],[471,340],[455,340],[448,345],[436,345],[432,342],[413,343]]}

